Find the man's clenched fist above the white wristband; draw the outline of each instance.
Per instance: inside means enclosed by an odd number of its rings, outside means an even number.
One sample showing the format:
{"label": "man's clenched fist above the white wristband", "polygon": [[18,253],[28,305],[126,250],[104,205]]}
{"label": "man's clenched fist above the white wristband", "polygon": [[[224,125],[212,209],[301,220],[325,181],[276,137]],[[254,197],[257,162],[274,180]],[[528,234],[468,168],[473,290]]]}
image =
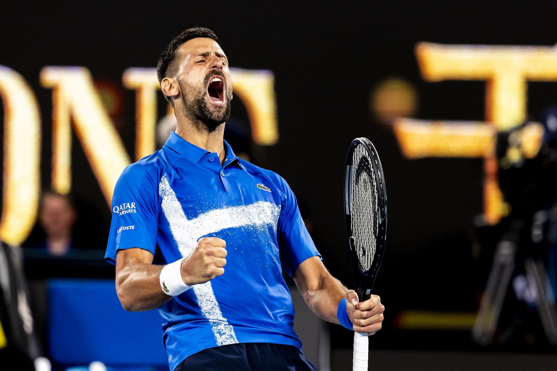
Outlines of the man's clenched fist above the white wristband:
{"label": "man's clenched fist above the white wristband", "polygon": [[226,241],[217,237],[203,237],[196,248],[182,260],[180,272],[186,285],[204,284],[222,276],[226,265]]}

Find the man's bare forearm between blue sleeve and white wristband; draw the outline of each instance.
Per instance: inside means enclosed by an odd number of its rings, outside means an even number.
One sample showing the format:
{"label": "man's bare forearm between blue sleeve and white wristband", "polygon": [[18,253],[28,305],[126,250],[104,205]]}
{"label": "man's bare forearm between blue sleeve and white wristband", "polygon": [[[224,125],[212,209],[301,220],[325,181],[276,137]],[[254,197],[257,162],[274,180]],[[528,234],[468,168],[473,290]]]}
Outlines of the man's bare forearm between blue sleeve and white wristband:
{"label": "man's bare forearm between blue sleeve and white wristband", "polygon": [[125,310],[153,310],[170,299],[160,288],[162,269],[161,265],[135,262],[118,272],[116,292]]}

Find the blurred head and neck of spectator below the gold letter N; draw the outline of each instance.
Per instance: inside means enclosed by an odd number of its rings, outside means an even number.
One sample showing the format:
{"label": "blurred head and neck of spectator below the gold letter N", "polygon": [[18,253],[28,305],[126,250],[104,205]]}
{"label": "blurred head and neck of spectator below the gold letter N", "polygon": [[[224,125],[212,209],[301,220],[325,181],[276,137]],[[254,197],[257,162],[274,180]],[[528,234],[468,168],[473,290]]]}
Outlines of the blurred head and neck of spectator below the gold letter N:
{"label": "blurred head and neck of spectator below the gold letter N", "polygon": [[74,248],[72,228],[77,219],[74,201],[70,196],[47,191],[43,194],[38,222],[44,236],[29,247],[45,248],[50,255],[63,256]]}

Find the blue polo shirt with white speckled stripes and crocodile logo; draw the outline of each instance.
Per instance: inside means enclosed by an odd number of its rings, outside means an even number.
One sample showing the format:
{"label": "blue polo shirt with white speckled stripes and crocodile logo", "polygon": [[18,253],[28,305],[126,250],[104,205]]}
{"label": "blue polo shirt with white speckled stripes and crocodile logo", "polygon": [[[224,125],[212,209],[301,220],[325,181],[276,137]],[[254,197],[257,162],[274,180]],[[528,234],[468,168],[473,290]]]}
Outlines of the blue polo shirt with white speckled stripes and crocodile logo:
{"label": "blue polo shirt with white speckled stripes and crocodile logo", "polygon": [[226,160],[174,132],[164,147],[129,165],[112,199],[105,259],[118,250],[150,251],[154,264],[188,256],[202,237],[226,241],[224,274],[160,307],[170,369],[206,348],[275,343],[301,349],[281,269],[290,276],[319,256],[296,198],[279,175],[234,155]]}

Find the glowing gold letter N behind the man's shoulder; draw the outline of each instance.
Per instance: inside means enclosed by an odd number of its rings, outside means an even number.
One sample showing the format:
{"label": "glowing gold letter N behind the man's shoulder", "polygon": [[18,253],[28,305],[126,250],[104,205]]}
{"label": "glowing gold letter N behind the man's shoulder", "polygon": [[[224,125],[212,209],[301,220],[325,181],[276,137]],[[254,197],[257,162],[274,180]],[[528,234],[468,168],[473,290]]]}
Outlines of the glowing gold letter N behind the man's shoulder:
{"label": "glowing gold letter N behind the man's shoulder", "polygon": [[53,91],[52,188],[60,193],[70,191],[71,121],[110,205],[114,184],[130,164],[130,158],[102,106],[89,70],[84,67],[45,67],[41,71],[41,84]]}

